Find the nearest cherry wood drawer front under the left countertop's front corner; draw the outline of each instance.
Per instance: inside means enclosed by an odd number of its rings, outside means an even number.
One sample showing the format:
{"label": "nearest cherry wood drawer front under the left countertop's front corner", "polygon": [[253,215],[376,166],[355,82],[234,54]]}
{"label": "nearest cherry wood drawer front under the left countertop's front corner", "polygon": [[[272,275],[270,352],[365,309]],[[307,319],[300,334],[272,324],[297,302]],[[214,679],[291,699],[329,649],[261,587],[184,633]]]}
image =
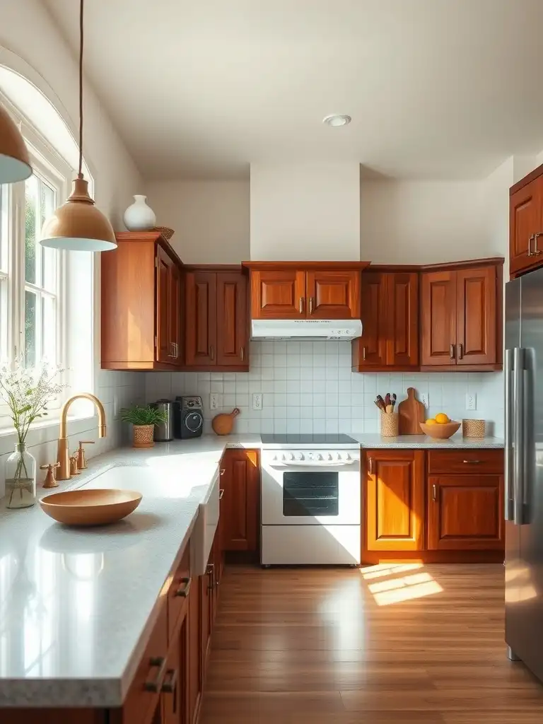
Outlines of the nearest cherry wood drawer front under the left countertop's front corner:
{"label": "nearest cherry wood drawer front under the left countertop's front corner", "polygon": [[166,674],[167,654],[168,616],[163,605],[122,707],[122,724],[150,723]]}

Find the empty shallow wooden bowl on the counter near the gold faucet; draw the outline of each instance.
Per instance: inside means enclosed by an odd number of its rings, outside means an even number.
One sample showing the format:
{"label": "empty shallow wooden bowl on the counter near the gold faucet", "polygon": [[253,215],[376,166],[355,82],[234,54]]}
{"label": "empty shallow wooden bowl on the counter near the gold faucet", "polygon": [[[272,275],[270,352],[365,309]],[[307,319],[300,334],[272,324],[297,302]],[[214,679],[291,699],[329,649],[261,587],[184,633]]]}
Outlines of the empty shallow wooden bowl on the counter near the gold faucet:
{"label": "empty shallow wooden bowl on the counter near the gold faucet", "polygon": [[41,509],[67,526],[104,526],[126,518],[140,505],[142,495],[133,490],[66,490],[46,495]]}

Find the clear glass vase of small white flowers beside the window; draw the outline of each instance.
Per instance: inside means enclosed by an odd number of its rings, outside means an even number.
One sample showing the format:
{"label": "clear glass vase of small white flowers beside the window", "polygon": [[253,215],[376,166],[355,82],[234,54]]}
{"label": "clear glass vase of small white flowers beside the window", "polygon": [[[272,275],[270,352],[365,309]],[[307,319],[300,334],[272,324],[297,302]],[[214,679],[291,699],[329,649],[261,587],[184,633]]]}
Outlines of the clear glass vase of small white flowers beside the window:
{"label": "clear glass vase of small white flowers beside the window", "polygon": [[64,369],[43,363],[26,368],[22,359],[14,366],[0,366],[0,397],[7,404],[17,434],[15,450],[4,463],[8,508],[30,508],[37,498],[35,492],[36,463],[26,447],[30,425],[47,415],[47,403],[66,387],[55,382]]}

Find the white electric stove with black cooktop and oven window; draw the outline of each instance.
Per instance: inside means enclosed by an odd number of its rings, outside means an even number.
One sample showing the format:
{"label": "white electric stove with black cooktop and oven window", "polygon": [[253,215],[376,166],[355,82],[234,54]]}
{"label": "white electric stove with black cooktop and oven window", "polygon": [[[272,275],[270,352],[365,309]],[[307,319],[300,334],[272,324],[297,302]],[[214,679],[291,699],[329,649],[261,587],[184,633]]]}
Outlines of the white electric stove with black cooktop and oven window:
{"label": "white electric stove with black cooktop and oven window", "polygon": [[262,435],[261,563],[358,565],[360,445],[335,435]]}

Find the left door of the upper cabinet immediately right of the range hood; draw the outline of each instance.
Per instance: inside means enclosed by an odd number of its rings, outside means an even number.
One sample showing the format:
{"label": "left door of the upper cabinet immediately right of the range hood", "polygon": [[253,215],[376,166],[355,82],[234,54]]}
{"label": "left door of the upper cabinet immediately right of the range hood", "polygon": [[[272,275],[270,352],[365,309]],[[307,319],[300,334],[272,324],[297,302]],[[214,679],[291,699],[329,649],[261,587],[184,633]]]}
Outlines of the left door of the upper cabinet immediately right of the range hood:
{"label": "left door of the upper cabinet immediately right of the range hood", "polygon": [[387,274],[364,271],[361,280],[362,337],[353,340],[353,366],[384,367],[387,363]]}

